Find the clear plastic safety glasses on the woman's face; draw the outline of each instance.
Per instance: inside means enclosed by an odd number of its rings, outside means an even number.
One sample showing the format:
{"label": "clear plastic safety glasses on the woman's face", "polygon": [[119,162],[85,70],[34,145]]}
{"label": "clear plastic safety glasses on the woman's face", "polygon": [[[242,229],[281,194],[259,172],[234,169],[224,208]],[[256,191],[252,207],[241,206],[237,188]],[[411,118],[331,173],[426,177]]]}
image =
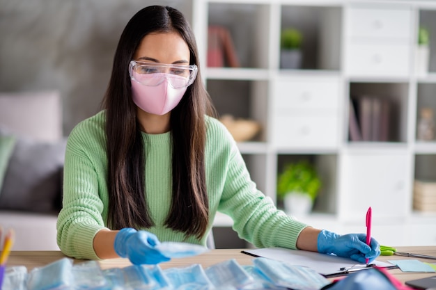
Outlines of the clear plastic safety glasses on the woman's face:
{"label": "clear plastic safety glasses on the woman's face", "polygon": [[194,83],[197,75],[196,65],[166,65],[130,61],[130,78],[144,86],[158,86],[167,79],[173,88],[186,88]]}

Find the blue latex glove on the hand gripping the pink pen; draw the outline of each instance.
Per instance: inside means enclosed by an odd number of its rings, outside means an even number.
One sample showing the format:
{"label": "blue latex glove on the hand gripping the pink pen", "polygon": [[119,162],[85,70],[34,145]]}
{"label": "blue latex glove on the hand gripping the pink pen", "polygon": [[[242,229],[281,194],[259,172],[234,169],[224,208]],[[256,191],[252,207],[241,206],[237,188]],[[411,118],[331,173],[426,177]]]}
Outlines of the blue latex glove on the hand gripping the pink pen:
{"label": "blue latex glove on the hand gripping the pink pen", "polygon": [[366,234],[344,234],[341,236],[322,229],[318,234],[318,252],[350,258],[365,264],[366,259],[371,263],[380,255],[380,244],[371,238],[371,247],[366,245]]}

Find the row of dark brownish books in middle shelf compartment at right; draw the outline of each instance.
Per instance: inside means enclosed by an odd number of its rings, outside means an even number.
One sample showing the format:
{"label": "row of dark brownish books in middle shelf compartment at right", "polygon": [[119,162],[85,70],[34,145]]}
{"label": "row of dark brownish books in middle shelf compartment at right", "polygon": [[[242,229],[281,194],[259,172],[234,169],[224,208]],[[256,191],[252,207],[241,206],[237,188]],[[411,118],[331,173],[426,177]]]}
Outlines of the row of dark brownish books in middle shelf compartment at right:
{"label": "row of dark brownish books in middle shelf compartment at right", "polygon": [[391,104],[382,97],[361,95],[350,98],[350,140],[389,140]]}

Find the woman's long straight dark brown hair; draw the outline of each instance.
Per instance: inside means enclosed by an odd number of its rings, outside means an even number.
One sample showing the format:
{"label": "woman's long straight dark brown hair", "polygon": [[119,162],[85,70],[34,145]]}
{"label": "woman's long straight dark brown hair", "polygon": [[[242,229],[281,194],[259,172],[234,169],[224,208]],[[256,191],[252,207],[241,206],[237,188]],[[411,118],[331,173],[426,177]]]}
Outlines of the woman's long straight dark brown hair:
{"label": "woman's long straight dark brown hair", "polygon": [[[145,193],[145,155],[137,106],[132,101],[128,65],[144,36],[176,31],[197,65],[194,33],[185,17],[169,6],[143,8],[130,19],[120,36],[111,79],[103,100],[106,109],[109,210],[111,229],[148,228],[154,225]],[[182,100],[171,111],[172,202],[165,225],[198,239],[208,227],[208,194],[205,185],[205,114],[215,115],[198,74]]]}

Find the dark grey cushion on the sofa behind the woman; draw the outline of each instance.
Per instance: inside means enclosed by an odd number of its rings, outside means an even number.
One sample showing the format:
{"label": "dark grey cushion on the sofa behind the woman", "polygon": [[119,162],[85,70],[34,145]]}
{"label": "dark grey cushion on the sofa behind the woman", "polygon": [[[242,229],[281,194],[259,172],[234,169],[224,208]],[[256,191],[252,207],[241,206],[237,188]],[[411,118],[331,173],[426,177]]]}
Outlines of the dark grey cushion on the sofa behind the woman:
{"label": "dark grey cushion on the sofa behind the woman", "polygon": [[3,179],[0,209],[59,211],[65,147],[66,140],[48,143],[17,136]]}

